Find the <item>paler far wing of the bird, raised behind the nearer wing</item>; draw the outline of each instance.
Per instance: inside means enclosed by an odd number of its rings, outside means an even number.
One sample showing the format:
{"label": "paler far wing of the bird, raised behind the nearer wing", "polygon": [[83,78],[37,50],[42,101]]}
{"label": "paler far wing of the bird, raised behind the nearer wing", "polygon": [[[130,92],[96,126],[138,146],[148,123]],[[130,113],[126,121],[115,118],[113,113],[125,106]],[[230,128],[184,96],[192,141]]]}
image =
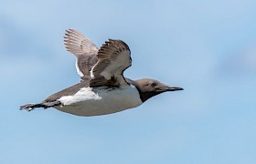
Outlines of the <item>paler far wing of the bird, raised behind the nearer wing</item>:
{"label": "paler far wing of the bird, raised behind the nearer wing", "polygon": [[64,44],[77,57],[76,68],[82,79],[90,79],[91,68],[97,63],[98,47],[75,29],[66,30]]}

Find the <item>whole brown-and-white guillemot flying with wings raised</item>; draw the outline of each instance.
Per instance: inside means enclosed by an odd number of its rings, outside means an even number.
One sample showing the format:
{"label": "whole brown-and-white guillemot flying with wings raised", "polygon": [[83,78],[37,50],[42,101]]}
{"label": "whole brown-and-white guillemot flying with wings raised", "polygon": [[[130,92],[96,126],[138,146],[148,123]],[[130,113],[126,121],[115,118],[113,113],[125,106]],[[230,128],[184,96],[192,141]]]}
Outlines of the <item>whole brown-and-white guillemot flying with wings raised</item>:
{"label": "whole brown-and-white guillemot flying with wings raised", "polygon": [[100,116],[138,107],[167,91],[183,90],[151,78],[123,77],[123,71],[132,66],[132,58],[129,46],[122,40],[109,39],[99,49],[79,31],[69,29],[64,44],[76,56],[80,83],[20,109],[57,108],[77,116]]}

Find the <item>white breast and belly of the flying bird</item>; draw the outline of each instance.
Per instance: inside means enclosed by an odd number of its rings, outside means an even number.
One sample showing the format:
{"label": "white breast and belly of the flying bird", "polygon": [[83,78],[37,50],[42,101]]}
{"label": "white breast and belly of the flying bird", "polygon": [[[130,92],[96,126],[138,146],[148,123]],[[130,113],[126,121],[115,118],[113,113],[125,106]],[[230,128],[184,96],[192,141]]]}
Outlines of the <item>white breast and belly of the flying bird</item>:
{"label": "white breast and belly of the flying bird", "polygon": [[64,105],[57,109],[79,116],[106,115],[127,108],[135,108],[143,102],[135,87],[106,88],[82,87],[73,96],[60,97]]}

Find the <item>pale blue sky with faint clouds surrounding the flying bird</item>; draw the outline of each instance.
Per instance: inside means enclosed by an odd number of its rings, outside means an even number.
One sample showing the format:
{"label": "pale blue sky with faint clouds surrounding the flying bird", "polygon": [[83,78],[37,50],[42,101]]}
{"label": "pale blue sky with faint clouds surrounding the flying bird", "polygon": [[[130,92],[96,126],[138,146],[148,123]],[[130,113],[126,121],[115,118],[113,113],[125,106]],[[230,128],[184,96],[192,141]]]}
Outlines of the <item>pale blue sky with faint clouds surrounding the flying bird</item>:
{"label": "pale blue sky with faint clouds surrounding the flying bird", "polygon": [[[255,17],[252,0],[2,2],[0,163],[256,163]],[[126,77],[185,90],[101,117],[19,111],[80,80],[68,28],[123,39]]]}

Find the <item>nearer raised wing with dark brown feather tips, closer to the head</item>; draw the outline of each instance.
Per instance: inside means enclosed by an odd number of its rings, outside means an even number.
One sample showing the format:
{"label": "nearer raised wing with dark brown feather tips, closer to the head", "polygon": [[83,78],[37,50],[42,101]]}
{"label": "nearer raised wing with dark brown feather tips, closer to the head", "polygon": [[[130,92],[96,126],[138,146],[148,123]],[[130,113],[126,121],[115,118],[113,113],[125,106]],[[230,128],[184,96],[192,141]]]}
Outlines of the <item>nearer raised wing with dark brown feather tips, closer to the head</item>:
{"label": "nearer raised wing with dark brown feather tips, closer to the head", "polygon": [[127,85],[123,71],[132,66],[131,51],[122,40],[106,41],[97,55],[99,61],[91,68],[90,87]]}

